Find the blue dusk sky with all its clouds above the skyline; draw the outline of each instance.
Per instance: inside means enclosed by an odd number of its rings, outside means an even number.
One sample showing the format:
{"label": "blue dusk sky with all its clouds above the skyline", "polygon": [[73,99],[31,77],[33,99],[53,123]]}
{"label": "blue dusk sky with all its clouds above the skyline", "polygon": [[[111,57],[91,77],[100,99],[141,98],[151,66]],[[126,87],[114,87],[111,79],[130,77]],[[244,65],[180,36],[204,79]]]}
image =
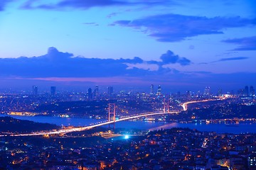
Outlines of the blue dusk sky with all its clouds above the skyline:
{"label": "blue dusk sky with all its clouds above the skyline", "polygon": [[1,0],[0,88],[256,86],[255,6],[255,0]]}

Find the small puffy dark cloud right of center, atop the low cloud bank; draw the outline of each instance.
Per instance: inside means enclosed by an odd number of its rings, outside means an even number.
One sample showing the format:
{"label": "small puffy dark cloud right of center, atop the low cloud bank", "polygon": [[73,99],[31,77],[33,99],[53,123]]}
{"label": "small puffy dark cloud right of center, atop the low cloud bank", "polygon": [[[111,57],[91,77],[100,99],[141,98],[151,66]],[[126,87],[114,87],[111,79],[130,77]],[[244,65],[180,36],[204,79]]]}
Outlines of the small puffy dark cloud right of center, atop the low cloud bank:
{"label": "small puffy dark cloud right of center, atop the low cloud bank", "polygon": [[191,64],[190,60],[186,59],[185,57],[179,57],[178,55],[174,55],[174,52],[171,52],[170,50],[168,50],[165,54],[161,55],[160,59],[162,60],[162,64]]}

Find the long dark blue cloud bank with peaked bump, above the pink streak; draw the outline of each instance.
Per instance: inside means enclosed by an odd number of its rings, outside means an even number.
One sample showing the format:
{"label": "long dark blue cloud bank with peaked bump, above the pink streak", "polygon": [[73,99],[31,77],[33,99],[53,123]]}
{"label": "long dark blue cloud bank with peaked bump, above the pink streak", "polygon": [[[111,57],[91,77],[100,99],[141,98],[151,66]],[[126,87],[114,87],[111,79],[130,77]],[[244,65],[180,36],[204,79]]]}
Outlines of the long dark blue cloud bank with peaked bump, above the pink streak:
{"label": "long dark blue cloud bank with peaked bump, above the pink streak", "polygon": [[[0,76],[12,77],[140,77],[159,74],[169,69],[160,68],[163,64],[186,65],[185,58],[163,62],[133,59],[100,59],[75,57],[69,52],[59,52],[55,47],[48,48],[46,55],[39,57],[18,57],[0,59]],[[173,53],[172,53],[173,54]],[[189,61],[189,60],[188,60]],[[184,64],[185,63],[185,64]]]}

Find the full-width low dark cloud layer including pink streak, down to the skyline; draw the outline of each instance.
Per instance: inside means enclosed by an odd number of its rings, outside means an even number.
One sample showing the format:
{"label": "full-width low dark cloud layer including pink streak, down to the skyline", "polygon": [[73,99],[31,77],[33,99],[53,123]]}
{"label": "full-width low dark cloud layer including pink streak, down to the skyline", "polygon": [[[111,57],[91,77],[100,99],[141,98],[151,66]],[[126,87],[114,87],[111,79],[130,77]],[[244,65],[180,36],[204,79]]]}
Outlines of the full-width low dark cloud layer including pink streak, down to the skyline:
{"label": "full-width low dark cloud layer including pink streak, down to the skyline", "polygon": [[[188,64],[186,58],[167,51],[161,61],[133,59],[99,59],[74,57],[50,47],[46,55],[0,59],[0,86],[31,86],[31,84],[57,84],[57,86],[85,86],[85,84],[116,84],[140,86],[161,84],[177,90],[203,89],[205,86],[244,86],[255,84],[256,73],[213,74],[210,72],[179,72],[164,64]],[[241,58],[222,59],[242,60]],[[143,64],[146,64],[144,67]],[[158,66],[158,69],[149,69]],[[157,68],[157,67],[156,67]]]}

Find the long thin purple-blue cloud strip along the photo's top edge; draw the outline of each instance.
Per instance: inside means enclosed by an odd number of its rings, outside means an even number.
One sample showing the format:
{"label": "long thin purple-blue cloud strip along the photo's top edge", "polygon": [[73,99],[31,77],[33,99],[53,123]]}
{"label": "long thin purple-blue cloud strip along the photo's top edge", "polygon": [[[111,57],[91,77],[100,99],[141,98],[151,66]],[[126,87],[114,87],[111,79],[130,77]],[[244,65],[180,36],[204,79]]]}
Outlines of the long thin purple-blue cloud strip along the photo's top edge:
{"label": "long thin purple-blue cloud strip along the photo's top edge", "polygon": [[86,10],[92,7],[106,6],[133,6],[133,5],[161,5],[166,4],[164,1],[124,1],[124,0],[62,0],[56,4],[37,4],[35,1],[26,1],[21,8],[33,9],[43,8],[46,10],[61,10],[64,8],[80,8]]}

